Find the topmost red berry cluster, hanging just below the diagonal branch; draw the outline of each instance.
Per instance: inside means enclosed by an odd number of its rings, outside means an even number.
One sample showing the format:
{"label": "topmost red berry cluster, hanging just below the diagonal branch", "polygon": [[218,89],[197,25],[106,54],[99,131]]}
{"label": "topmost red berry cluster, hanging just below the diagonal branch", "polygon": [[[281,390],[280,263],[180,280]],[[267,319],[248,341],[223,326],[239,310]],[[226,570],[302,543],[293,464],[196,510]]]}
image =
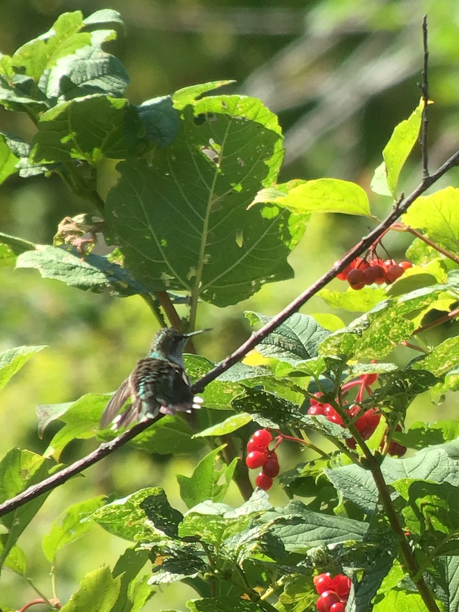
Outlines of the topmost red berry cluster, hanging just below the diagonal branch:
{"label": "topmost red berry cluster, hanging just below the diagonal branch", "polygon": [[347,280],[353,289],[363,289],[365,285],[390,285],[394,280],[400,278],[406,269],[411,267],[409,261],[401,261],[399,264],[394,259],[379,259],[373,257],[370,261],[357,257],[343,272],[337,274],[340,280]]}

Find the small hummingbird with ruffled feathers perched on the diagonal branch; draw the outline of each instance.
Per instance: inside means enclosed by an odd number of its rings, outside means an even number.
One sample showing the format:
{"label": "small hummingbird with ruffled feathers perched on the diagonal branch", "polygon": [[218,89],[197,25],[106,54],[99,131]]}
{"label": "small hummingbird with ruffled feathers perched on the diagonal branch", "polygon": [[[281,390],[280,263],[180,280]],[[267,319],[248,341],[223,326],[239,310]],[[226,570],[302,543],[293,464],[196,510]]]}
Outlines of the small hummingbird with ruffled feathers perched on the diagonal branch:
{"label": "small hummingbird with ruffled feathers perched on the diagonal branch", "polygon": [[[103,411],[101,427],[112,423],[112,429],[126,427],[133,420],[144,420],[158,414],[191,412],[201,408],[203,398],[194,395],[185,372],[183,350],[188,338],[209,329],[182,334],[173,327],[160,329],[152,341],[147,357],[140,359],[130,375]],[[118,414],[127,400],[131,403]]]}

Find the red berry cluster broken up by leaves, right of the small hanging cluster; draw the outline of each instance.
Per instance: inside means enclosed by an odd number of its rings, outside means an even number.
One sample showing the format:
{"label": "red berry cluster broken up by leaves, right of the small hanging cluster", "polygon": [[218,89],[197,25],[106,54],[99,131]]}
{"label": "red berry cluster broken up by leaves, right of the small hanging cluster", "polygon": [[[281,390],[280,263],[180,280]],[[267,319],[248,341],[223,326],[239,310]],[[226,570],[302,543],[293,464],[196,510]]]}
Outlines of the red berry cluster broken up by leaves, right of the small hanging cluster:
{"label": "red berry cluster broken up by leaves, right of the small hanging cluster", "polygon": [[[356,395],[356,403],[349,405],[346,408],[346,412],[348,412],[349,417],[354,420],[354,425],[364,440],[368,440],[368,438],[370,438],[373,434],[373,431],[375,431],[376,427],[378,427],[379,420],[381,419],[381,413],[378,412],[376,408],[369,408],[362,414],[362,409],[360,408],[359,403],[363,400],[365,392],[367,392],[368,395],[372,394],[373,390],[371,389],[371,385],[376,383],[377,379],[377,374],[364,374],[359,376],[359,378],[349,381],[349,383],[345,383],[343,386],[341,386],[341,396],[344,396],[349,389],[359,387]],[[322,395],[323,394],[321,393],[316,393],[314,394],[314,397],[311,398],[308,414],[322,414],[330,422],[341,425],[341,427],[345,427],[343,419],[341,419],[335,408],[333,408],[333,406],[331,406],[329,403],[320,401]],[[400,425],[397,425],[395,431],[401,431]],[[384,445],[386,444],[386,438],[387,431],[383,441],[381,441],[381,449],[383,449]],[[346,439],[346,444],[350,449],[356,448],[356,441],[354,438]],[[401,444],[398,444],[398,442],[391,441],[389,448],[387,449],[387,453],[392,456],[395,455],[397,457],[401,457],[406,453],[406,446],[402,446]]]}

